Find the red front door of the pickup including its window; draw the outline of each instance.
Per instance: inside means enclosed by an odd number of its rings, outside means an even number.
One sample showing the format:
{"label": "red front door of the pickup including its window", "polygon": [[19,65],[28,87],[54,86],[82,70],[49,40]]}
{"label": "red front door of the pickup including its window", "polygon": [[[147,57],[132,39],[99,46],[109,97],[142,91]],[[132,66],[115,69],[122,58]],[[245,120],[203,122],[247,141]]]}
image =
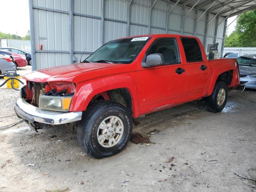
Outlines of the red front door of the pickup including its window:
{"label": "red front door of the pickup including its window", "polygon": [[[180,102],[184,96],[186,72],[182,72],[183,64],[180,60],[177,39],[156,39],[146,51],[146,56],[154,53],[164,56],[164,64],[139,69],[141,114],[160,110],[162,106]],[[180,70],[177,71],[177,69]]]}

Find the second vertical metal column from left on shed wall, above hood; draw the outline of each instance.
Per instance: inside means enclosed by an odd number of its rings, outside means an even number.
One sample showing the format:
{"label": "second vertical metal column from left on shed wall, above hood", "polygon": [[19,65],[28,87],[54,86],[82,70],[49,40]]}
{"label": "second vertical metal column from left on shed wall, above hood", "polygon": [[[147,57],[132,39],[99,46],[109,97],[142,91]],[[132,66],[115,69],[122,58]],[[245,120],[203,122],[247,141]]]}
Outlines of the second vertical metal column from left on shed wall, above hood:
{"label": "second vertical metal column from left on shed wall, above hood", "polygon": [[69,63],[73,64],[74,44],[73,44],[73,0],[68,0],[68,36],[69,36]]}

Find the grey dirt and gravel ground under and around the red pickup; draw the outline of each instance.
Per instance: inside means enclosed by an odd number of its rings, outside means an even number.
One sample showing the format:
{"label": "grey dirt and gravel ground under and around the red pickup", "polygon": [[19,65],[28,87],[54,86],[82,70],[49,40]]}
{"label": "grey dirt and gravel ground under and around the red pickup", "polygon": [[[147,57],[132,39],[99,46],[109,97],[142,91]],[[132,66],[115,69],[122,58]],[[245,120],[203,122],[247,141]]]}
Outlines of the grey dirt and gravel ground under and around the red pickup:
{"label": "grey dirt and gravel ground under and around the red pickup", "polygon": [[[18,92],[0,88],[0,94],[1,126],[19,121]],[[36,133],[23,122],[2,130],[0,191],[251,192],[234,173],[248,176],[256,168],[256,91],[229,94],[221,113],[191,102],[134,120],[134,133],[146,134],[151,144],[129,142],[101,160],[82,152],[76,128]]]}

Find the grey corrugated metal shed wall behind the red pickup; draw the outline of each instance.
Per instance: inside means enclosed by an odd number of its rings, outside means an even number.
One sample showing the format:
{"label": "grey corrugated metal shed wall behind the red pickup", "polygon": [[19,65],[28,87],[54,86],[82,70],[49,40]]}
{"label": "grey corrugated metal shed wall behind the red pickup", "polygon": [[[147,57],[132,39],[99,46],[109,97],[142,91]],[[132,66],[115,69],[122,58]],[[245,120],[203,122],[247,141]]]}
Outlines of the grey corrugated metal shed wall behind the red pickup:
{"label": "grey corrugated metal shed wall behind the red pickup", "polygon": [[83,59],[132,35],[184,34],[221,48],[224,18],[206,13],[196,21],[203,12],[180,4],[168,14],[173,6],[166,0],[30,0],[33,70],[79,62],[84,49]]}

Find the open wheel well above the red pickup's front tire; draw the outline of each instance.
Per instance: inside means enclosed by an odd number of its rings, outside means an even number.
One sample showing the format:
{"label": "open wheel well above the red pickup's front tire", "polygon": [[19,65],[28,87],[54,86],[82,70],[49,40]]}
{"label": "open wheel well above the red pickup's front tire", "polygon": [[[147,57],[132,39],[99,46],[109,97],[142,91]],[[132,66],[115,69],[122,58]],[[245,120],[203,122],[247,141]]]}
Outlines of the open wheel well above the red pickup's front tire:
{"label": "open wheel well above the red pickup's front tire", "polygon": [[127,88],[112,89],[106,92],[99,93],[92,98],[90,103],[96,100],[111,100],[114,102],[118,102],[125,106],[128,113],[132,116],[132,98]]}

